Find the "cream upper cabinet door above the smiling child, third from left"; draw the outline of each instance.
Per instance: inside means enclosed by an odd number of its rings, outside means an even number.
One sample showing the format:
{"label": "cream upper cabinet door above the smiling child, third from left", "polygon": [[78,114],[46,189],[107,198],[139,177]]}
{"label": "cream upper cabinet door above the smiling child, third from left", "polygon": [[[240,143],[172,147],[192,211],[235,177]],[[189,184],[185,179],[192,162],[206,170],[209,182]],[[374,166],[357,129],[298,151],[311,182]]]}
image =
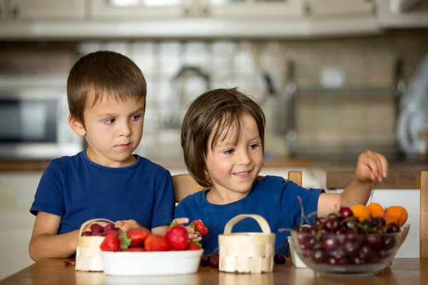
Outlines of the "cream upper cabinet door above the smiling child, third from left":
{"label": "cream upper cabinet door above the smiling child, third from left", "polygon": [[303,0],[199,0],[199,16],[243,19],[293,19],[304,15]]}

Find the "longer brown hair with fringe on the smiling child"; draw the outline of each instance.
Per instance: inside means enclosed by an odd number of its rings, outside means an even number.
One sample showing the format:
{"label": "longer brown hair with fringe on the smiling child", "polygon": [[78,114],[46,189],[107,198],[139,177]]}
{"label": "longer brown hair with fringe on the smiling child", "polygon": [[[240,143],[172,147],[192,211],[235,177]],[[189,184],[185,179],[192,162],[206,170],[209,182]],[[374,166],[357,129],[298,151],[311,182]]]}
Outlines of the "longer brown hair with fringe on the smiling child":
{"label": "longer brown hair with fringe on the smiling child", "polygon": [[242,128],[243,115],[250,115],[258,126],[262,149],[265,140],[265,115],[255,100],[241,93],[237,88],[215,89],[199,95],[185,113],[181,128],[181,147],[188,172],[199,185],[212,187],[205,174],[205,158],[208,153],[208,139],[215,130],[213,149],[220,140],[220,135],[236,127],[234,143],[238,144]]}

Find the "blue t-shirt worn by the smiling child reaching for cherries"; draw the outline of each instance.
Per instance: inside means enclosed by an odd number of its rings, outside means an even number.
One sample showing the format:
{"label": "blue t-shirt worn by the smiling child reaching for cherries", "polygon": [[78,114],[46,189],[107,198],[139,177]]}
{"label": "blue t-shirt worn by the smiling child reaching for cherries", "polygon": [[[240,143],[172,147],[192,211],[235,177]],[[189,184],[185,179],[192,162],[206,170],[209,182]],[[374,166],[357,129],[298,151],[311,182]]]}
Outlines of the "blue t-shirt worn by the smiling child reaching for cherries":
{"label": "blue t-shirt worn by the smiling child reaching for cherries", "polygon": [[[175,208],[175,218],[188,217],[190,222],[202,219],[208,228],[208,234],[202,238],[201,244],[206,254],[218,252],[218,234],[223,234],[226,223],[238,214],[259,214],[264,217],[270,226],[271,232],[276,234],[275,252],[288,255],[287,236],[289,231],[280,232],[280,229],[292,229],[300,226],[301,210],[297,196],[302,198],[304,214],[317,211],[318,198],[324,190],[310,189],[285,181],[282,177],[265,176],[262,180],[255,180],[253,189],[246,197],[230,204],[211,204],[205,198],[210,190],[196,192],[185,197]],[[315,222],[316,214],[308,219],[310,224]],[[303,222],[307,224],[307,222]],[[235,224],[232,232],[262,232],[258,222],[254,219],[243,219]]]}

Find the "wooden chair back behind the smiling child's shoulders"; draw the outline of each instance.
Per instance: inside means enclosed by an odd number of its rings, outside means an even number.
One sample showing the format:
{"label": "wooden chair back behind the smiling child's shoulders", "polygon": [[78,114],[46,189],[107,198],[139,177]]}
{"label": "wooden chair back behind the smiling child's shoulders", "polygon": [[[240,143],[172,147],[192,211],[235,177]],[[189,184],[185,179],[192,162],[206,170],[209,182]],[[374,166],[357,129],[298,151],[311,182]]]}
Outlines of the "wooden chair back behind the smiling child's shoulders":
{"label": "wooden chair back behind the smiling child's shoulders", "polygon": [[[262,178],[263,176],[258,176],[258,180]],[[297,185],[302,186],[302,172],[289,171],[287,180],[291,180]],[[184,197],[195,192],[206,190],[204,187],[198,185],[189,174],[173,175],[173,187],[175,191],[175,202],[180,202]]]}

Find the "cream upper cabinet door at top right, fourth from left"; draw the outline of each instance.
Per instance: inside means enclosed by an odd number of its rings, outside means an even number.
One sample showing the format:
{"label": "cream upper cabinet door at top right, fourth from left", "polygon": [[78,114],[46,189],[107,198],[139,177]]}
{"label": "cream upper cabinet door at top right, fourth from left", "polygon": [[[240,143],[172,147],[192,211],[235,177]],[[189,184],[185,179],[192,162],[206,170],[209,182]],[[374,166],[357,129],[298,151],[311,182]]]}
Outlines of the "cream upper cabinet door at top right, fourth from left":
{"label": "cream upper cabinet door at top right, fourth from left", "polygon": [[374,1],[367,0],[307,0],[311,17],[374,15]]}

